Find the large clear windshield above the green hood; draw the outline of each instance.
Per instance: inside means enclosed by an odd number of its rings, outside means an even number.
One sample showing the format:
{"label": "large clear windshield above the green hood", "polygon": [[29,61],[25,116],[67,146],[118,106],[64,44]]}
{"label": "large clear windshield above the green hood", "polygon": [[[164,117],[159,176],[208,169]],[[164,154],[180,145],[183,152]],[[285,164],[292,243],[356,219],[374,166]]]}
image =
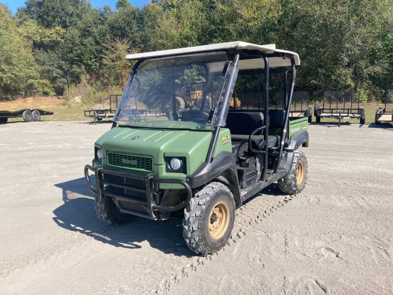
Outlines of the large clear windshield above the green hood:
{"label": "large clear windshield above the green hood", "polygon": [[219,114],[227,108],[225,92],[233,92],[233,70],[237,74],[224,52],[142,61],[128,79],[114,121],[185,129],[223,125]]}

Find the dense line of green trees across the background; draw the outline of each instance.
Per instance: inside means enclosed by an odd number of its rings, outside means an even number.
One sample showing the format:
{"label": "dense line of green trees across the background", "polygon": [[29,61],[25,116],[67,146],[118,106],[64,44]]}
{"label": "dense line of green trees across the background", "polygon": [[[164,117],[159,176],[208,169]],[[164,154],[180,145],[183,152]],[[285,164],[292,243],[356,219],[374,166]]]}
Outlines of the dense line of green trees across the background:
{"label": "dense line of green trees across the background", "polygon": [[14,15],[0,4],[0,99],[121,88],[126,54],[235,40],[297,52],[298,91],[393,88],[391,0],[27,0]]}

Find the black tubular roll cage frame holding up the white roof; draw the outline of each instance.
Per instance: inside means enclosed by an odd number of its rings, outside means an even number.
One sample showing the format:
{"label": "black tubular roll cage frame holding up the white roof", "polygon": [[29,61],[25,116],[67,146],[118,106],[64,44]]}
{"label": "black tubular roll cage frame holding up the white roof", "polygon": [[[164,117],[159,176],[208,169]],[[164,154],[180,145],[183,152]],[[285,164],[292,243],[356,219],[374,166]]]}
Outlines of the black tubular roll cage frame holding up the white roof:
{"label": "black tubular roll cage frame holding up the white roof", "polygon": [[[223,50],[219,50],[219,51],[223,51]],[[239,51],[237,49],[231,49],[231,50],[226,50],[228,59],[232,60],[232,62],[234,63],[235,66],[237,66],[239,59],[258,59],[258,58],[262,58],[264,61],[264,68],[262,70],[263,74],[264,74],[264,78],[265,78],[265,107],[264,107],[264,125],[255,129],[252,134],[250,134],[249,136],[249,148],[252,152],[254,153],[262,153],[264,154],[264,162],[263,162],[263,170],[262,170],[262,175],[261,175],[261,180],[265,180],[266,178],[266,172],[267,172],[267,166],[268,166],[268,156],[269,156],[269,152],[268,152],[268,141],[269,141],[269,81],[270,81],[270,76],[269,76],[269,57],[281,57],[283,59],[290,59],[291,60],[291,84],[290,84],[290,90],[289,90],[289,97],[287,97],[287,70],[284,70],[284,108],[285,108],[285,116],[284,116],[284,125],[282,128],[282,134],[281,134],[281,142],[280,142],[280,146],[279,146],[279,151],[272,151],[270,154],[274,154],[277,155],[277,161],[276,161],[276,167],[274,169],[274,173],[277,174],[278,173],[278,169],[280,167],[280,163],[281,163],[281,158],[282,158],[282,152],[283,152],[283,148],[284,148],[284,144],[285,144],[285,140],[287,138],[288,132],[288,119],[289,119],[289,113],[290,113],[290,108],[291,108],[291,103],[292,103],[292,96],[293,96],[293,90],[295,88],[295,79],[296,79],[296,64],[295,64],[295,59],[293,58],[293,56],[288,55],[288,54],[282,54],[282,53],[272,53],[272,54],[266,54],[266,53],[262,53],[262,52],[258,52],[258,51],[245,51],[244,53],[242,53],[242,55],[240,55]],[[179,54],[179,55],[184,55],[184,54]],[[174,55],[176,56],[176,55]],[[146,59],[139,59],[132,70],[131,73],[131,81],[134,79],[134,76],[137,72],[137,68],[140,65],[140,63],[142,61],[144,61]],[[274,72],[276,71],[280,71],[282,68],[286,67],[279,67],[279,68],[275,68],[273,69]],[[248,70],[249,73],[261,73],[261,71],[258,70]],[[228,85],[230,85],[230,82],[234,79],[234,71],[232,71],[231,76],[229,77],[229,83]],[[230,91],[226,91],[225,92],[225,97],[224,97],[224,101],[223,101],[223,105],[225,104],[229,104],[229,100],[231,98],[232,93],[230,93]],[[219,119],[222,120],[224,116],[226,116],[225,113],[227,113],[228,111],[222,108],[219,114]],[[112,124],[112,128],[116,126],[116,122],[113,122]],[[213,161],[213,153],[214,153],[214,149],[216,147],[216,143],[217,143],[217,138],[218,135],[220,133],[220,129],[221,126],[217,126],[214,131],[213,131],[213,136],[212,139],[210,141],[210,145],[209,145],[209,149],[206,155],[206,162],[210,163]],[[256,150],[252,148],[252,138],[253,135],[256,134],[257,132],[264,130],[264,141],[265,141],[265,146],[264,146],[264,150]]]}

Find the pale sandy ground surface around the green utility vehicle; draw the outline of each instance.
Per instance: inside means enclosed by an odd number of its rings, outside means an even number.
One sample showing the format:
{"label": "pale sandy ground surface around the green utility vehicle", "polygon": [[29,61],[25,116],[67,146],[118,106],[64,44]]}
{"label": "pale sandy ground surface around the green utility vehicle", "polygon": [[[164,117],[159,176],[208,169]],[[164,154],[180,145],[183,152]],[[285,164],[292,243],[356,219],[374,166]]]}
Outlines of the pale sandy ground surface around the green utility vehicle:
{"label": "pale sandy ground surface around the green utility vehicle", "polygon": [[103,225],[83,179],[110,124],[0,125],[0,294],[393,294],[393,129],[309,125],[305,190],[237,210],[218,254],[179,221]]}

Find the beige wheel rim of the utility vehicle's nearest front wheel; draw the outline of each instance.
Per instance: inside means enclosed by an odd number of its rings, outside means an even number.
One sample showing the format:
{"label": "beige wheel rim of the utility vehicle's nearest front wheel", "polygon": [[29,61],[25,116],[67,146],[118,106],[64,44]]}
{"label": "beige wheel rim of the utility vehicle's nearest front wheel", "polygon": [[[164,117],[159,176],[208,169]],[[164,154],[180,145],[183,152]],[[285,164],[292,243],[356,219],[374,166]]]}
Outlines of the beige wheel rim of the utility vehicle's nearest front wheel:
{"label": "beige wheel rim of the utility vehicle's nearest front wheel", "polygon": [[209,233],[214,239],[220,239],[224,236],[229,225],[229,208],[225,203],[216,204],[210,212]]}

